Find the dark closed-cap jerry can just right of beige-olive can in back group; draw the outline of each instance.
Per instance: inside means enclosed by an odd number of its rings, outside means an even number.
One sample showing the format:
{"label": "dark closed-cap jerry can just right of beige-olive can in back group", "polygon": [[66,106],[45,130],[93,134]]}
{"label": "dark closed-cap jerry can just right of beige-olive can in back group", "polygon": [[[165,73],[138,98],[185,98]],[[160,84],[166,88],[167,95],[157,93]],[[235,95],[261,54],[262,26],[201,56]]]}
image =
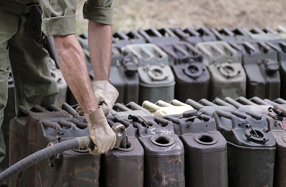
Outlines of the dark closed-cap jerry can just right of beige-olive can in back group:
{"label": "dark closed-cap jerry can just right of beige-olive can in back group", "polygon": [[[280,96],[280,75],[277,52],[265,42],[241,42],[242,64],[245,69],[246,97],[276,99]],[[255,73],[254,73],[255,72]],[[233,97],[235,98],[235,97]]]}

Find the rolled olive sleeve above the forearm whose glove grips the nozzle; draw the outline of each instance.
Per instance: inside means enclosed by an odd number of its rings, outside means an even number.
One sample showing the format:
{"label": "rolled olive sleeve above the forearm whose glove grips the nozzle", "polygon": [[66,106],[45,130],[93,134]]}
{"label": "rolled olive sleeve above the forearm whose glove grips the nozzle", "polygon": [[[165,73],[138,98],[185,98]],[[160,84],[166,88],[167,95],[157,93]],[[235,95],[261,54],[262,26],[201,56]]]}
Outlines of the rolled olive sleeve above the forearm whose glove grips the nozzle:
{"label": "rolled olive sleeve above the forearm whose glove grips the nozzle", "polygon": [[76,33],[76,0],[38,0],[43,10],[42,31],[47,36]]}

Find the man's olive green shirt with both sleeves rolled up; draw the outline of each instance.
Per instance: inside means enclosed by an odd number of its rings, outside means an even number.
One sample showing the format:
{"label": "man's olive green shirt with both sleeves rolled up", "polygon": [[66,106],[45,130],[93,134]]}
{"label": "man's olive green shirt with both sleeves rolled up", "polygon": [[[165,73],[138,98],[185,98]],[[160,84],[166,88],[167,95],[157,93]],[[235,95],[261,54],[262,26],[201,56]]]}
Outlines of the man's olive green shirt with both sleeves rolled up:
{"label": "man's olive green shirt with both sleeves rolled up", "polygon": [[[76,33],[76,0],[0,0],[0,3],[16,14],[29,13],[29,7],[40,5],[43,10],[42,31],[47,36],[65,36]],[[83,17],[112,24],[113,0],[87,0],[83,7]]]}

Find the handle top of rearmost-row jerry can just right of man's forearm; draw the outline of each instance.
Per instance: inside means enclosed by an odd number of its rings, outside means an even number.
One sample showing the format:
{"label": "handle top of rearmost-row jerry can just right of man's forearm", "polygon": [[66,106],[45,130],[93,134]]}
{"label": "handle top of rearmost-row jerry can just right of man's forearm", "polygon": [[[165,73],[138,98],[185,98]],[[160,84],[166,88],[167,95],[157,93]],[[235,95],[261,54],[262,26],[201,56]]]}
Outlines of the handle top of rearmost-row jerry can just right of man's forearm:
{"label": "handle top of rearmost-row jerry can just right of man's forearm", "polygon": [[144,37],[138,32],[131,30],[128,33],[124,33],[120,30],[113,34],[112,42],[116,46],[123,47],[128,44],[146,43]]}

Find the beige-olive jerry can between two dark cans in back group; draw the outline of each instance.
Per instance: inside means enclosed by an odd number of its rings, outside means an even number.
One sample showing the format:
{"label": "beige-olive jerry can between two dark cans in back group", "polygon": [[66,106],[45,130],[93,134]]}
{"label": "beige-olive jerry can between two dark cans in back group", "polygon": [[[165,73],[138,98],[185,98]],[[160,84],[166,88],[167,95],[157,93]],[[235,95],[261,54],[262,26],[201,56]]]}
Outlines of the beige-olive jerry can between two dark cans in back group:
{"label": "beige-olive jerry can between two dark cans in back group", "polygon": [[206,56],[204,64],[211,77],[210,99],[245,96],[246,75],[237,51],[224,41],[201,42],[196,47]]}

